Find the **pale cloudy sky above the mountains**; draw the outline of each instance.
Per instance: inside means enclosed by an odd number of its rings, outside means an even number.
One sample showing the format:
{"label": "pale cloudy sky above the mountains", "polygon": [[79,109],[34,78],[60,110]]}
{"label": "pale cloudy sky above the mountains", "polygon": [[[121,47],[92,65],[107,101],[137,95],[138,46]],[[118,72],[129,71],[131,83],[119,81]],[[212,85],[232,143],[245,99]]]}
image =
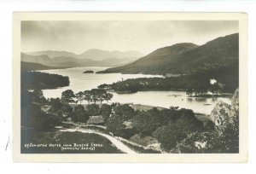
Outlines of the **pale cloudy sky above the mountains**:
{"label": "pale cloudy sky above the mountains", "polygon": [[238,32],[231,20],[21,21],[21,51],[136,50],[144,55],[178,43],[206,44]]}

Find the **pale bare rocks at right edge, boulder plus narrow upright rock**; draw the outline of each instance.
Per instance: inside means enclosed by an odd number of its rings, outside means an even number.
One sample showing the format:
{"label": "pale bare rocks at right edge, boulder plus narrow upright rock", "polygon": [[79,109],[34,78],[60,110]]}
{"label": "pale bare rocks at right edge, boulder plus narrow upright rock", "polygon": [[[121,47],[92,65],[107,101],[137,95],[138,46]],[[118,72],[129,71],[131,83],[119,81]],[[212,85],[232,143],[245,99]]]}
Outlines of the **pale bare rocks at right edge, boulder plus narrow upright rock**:
{"label": "pale bare rocks at right edge, boulder plus narrow upright rock", "polygon": [[237,89],[232,98],[231,105],[218,102],[212,110],[210,119],[218,127],[224,127],[230,123],[230,118],[238,116],[239,113],[239,90]]}

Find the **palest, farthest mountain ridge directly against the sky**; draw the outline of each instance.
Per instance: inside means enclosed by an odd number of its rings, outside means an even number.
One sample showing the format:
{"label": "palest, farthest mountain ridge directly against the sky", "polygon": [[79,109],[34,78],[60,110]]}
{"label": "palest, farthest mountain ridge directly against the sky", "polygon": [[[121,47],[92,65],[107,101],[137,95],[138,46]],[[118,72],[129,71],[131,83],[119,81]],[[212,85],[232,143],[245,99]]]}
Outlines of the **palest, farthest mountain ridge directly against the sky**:
{"label": "palest, farthest mountain ridge directly against the sky", "polygon": [[67,51],[54,51],[54,50],[47,50],[47,51],[37,51],[37,52],[28,52],[26,55],[47,55],[49,58],[55,57],[73,57],[77,59],[85,59],[85,60],[92,60],[92,61],[103,61],[109,58],[133,58],[137,59],[142,57],[143,54],[137,51],[107,51],[102,49],[89,49],[86,50],[84,53],[80,55],[76,55],[72,52]]}

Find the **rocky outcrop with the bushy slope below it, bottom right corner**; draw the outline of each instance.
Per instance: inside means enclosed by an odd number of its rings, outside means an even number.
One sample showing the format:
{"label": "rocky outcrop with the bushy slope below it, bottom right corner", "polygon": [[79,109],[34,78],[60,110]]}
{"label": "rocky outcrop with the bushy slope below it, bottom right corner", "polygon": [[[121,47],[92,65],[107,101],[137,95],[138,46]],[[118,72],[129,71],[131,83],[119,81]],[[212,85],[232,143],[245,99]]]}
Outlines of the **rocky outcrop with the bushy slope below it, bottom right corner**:
{"label": "rocky outcrop with the bushy slope below it, bottom right corner", "polygon": [[218,102],[210,119],[215,131],[193,132],[178,142],[172,153],[237,154],[239,153],[239,90],[231,105]]}

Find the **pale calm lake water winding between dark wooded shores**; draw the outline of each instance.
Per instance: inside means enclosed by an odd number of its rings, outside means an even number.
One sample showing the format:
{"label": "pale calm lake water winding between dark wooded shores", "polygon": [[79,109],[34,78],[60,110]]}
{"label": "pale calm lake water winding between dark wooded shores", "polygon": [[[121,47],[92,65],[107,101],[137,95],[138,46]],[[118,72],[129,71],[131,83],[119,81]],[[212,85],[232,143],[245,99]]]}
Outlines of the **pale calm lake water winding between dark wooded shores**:
{"label": "pale calm lake water winding between dark wooded shores", "polygon": [[[121,73],[83,73],[86,70],[94,72],[102,71],[106,67],[73,67],[68,69],[44,70],[40,72],[55,73],[62,76],[68,76],[70,85],[63,88],[53,90],[43,90],[46,98],[61,97],[61,92],[64,90],[73,90],[74,93],[84,90],[97,88],[100,84],[112,84],[113,82],[125,80],[127,78],[152,78],[162,77],[160,75],[145,75],[145,74],[121,74]],[[139,91],[132,94],[117,94],[113,93],[111,102],[143,104],[156,107],[183,107],[193,109],[195,113],[210,114],[213,107],[219,101],[231,102],[230,97],[193,97],[189,98],[184,91]],[[87,102],[84,102],[87,103]]]}

